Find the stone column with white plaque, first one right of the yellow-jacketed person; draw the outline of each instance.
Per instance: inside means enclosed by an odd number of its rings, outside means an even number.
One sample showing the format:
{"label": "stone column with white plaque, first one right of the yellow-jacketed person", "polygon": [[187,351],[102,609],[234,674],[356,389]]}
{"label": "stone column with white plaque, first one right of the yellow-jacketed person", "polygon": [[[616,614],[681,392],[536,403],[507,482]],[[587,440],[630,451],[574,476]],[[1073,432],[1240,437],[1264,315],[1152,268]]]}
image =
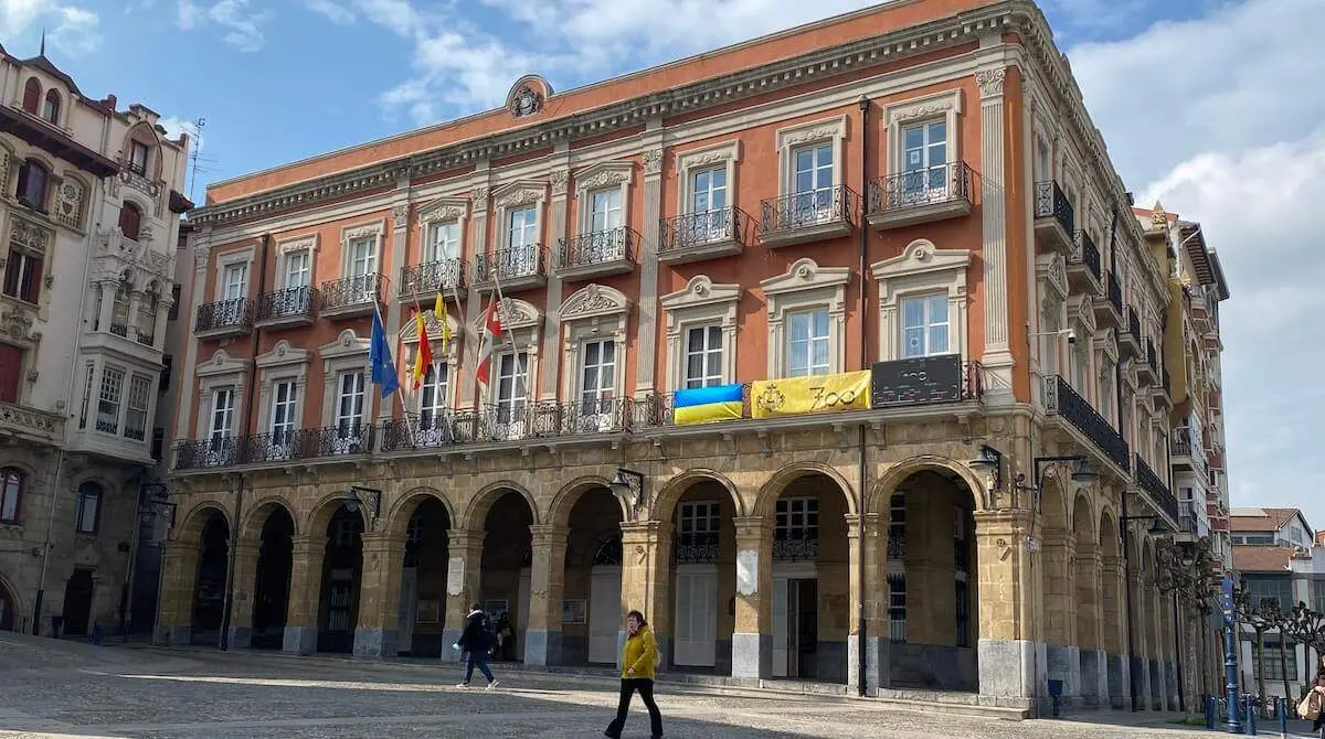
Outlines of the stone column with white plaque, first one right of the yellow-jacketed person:
{"label": "stone column with white plaque, first one right of the yellow-jacketed person", "polygon": [[737,617],[731,634],[731,677],[772,677],[772,522],[735,518]]}

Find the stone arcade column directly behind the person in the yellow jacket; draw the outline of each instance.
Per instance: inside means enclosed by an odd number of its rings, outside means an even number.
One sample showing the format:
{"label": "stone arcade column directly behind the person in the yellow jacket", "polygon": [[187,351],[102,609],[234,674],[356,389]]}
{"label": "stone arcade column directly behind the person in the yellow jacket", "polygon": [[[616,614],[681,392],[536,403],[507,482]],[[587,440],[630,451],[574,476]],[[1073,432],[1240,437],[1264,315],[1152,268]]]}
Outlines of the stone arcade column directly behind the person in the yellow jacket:
{"label": "stone arcade column directly behind the person in the yellow jacket", "polygon": [[672,656],[672,609],[668,572],[672,559],[672,524],[662,520],[621,523],[621,624],[617,630],[617,667],[625,644],[625,613],[639,611],[649,621],[659,642],[659,667]]}

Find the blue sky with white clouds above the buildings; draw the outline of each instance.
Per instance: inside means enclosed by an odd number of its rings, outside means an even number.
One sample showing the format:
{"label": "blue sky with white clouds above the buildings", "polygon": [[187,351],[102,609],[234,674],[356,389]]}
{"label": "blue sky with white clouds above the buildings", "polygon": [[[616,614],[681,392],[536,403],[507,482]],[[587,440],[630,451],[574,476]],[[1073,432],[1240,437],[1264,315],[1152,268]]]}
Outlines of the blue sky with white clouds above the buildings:
{"label": "blue sky with white clouds above the buildings", "polygon": [[[0,42],[167,127],[205,184],[839,12],[861,0],[0,0]],[[1235,506],[1325,528],[1321,0],[1040,0],[1137,204],[1202,222],[1222,306]]]}

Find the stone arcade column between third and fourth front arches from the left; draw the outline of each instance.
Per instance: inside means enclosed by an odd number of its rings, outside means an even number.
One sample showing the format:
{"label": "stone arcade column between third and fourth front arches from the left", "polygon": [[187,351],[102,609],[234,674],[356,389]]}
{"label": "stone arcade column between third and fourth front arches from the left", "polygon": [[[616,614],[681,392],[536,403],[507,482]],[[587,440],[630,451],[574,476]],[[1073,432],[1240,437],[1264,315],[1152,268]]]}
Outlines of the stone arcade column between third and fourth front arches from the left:
{"label": "stone arcade column between third and fourth front arches from the left", "polygon": [[359,622],[354,629],[355,657],[395,657],[398,653],[404,556],[404,531],[363,535]]}

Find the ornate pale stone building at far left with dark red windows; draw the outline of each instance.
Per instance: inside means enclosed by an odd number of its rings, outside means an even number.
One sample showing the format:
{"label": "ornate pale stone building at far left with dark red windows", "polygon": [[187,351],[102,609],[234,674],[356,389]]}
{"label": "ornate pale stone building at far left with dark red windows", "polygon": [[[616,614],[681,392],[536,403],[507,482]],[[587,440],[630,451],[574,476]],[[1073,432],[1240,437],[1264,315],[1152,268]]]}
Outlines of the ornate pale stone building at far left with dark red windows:
{"label": "ornate pale stone building at far left with dark red windows", "polygon": [[0,629],[129,620],[186,138],[0,49]]}

